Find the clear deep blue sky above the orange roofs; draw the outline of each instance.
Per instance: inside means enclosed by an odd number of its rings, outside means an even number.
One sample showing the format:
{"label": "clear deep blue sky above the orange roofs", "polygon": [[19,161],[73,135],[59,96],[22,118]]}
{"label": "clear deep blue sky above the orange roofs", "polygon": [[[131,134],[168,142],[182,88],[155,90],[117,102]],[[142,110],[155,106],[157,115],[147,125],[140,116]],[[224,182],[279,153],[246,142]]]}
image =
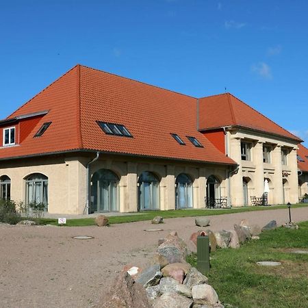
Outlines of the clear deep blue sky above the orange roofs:
{"label": "clear deep blue sky above the orange roofs", "polygon": [[224,92],[307,140],[307,1],[1,1],[0,118],[75,64]]}

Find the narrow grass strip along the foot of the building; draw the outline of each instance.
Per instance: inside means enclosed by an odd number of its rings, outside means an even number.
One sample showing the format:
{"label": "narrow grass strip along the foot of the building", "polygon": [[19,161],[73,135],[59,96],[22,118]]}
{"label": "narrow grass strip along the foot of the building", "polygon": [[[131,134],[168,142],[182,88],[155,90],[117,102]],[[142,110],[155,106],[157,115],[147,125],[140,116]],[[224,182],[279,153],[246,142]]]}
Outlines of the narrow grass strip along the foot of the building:
{"label": "narrow grass strip along the foot of the building", "polygon": [[[292,205],[292,208],[307,207],[308,204],[300,203]],[[193,216],[213,216],[231,213],[240,213],[242,211],[266,211],[268,209],[285,209],[286,205],[278,205],[272,207],[240,207],[233,209],[175,209],[170,211],[143,211],[136,214],[125,216],[110,216],[110,224],[120,224],[123,222],[137,222],[144,220],[152,220],[155,216],[162,216],[163,218],[179,218],[179,217],[193,217]],[[102,213],[103,214],[103,213]],[[40,224],[55,224],[56,219],[42,218]],[[68,227],[84,227],[94,225],[94,218],[77,218],[66,220]]]}

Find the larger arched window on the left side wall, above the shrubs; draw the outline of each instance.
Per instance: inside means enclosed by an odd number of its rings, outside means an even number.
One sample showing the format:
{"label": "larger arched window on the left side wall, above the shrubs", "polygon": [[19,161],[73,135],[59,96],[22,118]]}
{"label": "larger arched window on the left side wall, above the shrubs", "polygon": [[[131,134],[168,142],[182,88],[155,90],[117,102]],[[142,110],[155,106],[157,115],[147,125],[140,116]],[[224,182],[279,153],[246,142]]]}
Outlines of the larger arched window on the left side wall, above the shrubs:
{"label": "larger arched window on the left side wall, above the shrubs", "polygon": [[26,204],[44,203],[48,209],[48,177],[40,173],[29,175],[26,179]]}

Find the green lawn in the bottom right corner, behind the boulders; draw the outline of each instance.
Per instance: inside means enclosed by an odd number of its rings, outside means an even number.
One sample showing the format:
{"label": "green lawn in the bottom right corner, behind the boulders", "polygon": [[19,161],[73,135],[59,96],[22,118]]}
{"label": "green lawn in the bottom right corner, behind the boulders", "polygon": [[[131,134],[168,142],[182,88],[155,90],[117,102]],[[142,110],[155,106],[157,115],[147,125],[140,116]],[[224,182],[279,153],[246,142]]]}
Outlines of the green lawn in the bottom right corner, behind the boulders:
{"label": "green lawn in the bottom right corner, behind the boulders", "polygon": [[[290,253],[292,248],[308,250],[308,222],[299,226],[298,230],[266,231],[260,240],[239,249],[211,253],[207,277],[220,301],[239,308],[308,307],[308,255]],[[188,261],[196,266],[196,255]],[[282,265],[259,266],[257,261],[280,261]]]}

